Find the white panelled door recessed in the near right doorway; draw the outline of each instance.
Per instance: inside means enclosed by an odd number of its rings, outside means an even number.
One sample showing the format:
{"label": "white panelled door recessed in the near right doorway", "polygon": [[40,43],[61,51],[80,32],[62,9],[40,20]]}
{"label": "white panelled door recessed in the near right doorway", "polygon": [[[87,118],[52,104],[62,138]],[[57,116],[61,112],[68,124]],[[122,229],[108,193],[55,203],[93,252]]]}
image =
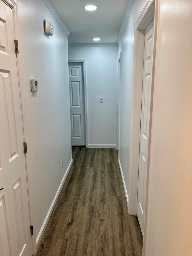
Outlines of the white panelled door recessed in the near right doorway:
{"label": "white panelled door recessed in the near right doorway", "polygon": [[139,155],[139,179],[137,196],[137,217],[143,234],[146,202],[147,158],[149,144],[149,118],[152,86],[152,62],[154,42],[154,20],[149,24],[145,33],[143,89],[141,107],[140,129],[140,155]]}

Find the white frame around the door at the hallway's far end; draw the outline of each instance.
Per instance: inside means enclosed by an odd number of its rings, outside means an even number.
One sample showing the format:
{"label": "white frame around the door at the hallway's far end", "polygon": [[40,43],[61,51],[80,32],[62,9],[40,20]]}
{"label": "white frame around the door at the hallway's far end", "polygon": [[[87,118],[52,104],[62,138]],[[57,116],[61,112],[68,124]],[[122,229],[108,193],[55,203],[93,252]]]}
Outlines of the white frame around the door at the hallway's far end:
{"label": "white frame around the door at the hallway's far end", "polygon": [[87,65],[86,59],[69,59],[69,63],[80,62],[83,64],[84,98],[85,98],[85,146],[88,148],[88,97],[87,97]]}

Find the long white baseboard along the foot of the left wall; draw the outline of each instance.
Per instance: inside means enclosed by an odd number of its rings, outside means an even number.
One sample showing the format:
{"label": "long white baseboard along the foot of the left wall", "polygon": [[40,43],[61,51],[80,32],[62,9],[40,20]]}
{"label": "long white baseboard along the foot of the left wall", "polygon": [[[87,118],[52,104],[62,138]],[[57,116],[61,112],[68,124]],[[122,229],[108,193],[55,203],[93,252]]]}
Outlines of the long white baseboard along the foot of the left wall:
{"label": "long white baseboard along the foot of the left wall", "polygon": [[48,211],[48,213],[47,213],[47,215],[46,215],[46,218],[45,218],[45,220],[44,220],[44,223],[43,223],[43,225],[42,225],[42,227],[41,227],[41,230],[39,231],[39,234],[38,234],[38,236],[37,236],[37,238],[36,238],[37,247],[38,247],[38,245],[39,245],[39,243],[40,243],[40,241],[41,241],[41,238],[42,238],[43,233],[44,233],[44,231],[45,231],[45,229],[46,229],[46,226],[47,226],[47,223],[48,223],[48,221],[49,221],[49,218],[51,217],[51,213],[52,213],[52,211],[53,211],[53,208],[54,208],[54,206],[55,206],[55,203],[56,203],[56,201],[57,201],[57,198],[58,198],[58,196],[59,196],[59,194],[60,194],[60,192],[61,192],[61,188],[63,187],[64,182],[65,182],[65,180],[66,180],[66,178],[67,178],[67,175],[68,175],[68,173],[69,173],[69,170],[70,170],[70,167],[71,167],[72,163],[73,163],[73,159],[71,158],[71,161],[70,161],[70,163],[69,163],[69,165],[68,165],[68,167],[67,167],[67,170],[66,170],[66,172],[65,172],[65,175],[64,175],[64,177],[63,177],[63,179],[62,179],[62,181],[61,181],[61,184],[59,185],[59,188],[58,188],[58,190],[57,190],[57,193],[56,193],[56,195],[55,195],[55,197],[54,197],[54,199],[53,199],[53,201],[52,201],[52,204],[51,204],[51,206],[50,206],[50,208],[49,208],[49,211]]}

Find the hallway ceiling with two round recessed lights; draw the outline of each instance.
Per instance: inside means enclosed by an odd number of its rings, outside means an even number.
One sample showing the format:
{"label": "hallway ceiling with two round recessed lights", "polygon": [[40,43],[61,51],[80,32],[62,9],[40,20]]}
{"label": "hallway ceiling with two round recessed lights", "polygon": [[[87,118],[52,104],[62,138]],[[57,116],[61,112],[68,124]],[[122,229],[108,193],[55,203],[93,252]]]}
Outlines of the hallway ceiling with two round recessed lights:
{"label": "hallway ceiling with two round recessed lights", "polygon": [[[50,0],[70,31],[69,44],[116,43],[129,0]],[[86,11],[84,5],[96,5]]]}

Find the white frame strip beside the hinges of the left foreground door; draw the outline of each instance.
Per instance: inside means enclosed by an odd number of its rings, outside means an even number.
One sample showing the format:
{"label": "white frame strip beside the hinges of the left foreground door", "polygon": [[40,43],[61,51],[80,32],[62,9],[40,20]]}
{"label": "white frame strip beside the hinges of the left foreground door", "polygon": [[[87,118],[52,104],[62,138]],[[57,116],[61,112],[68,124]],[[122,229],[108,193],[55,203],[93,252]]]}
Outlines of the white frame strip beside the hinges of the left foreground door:
{"label": "white frame strip beside the hinges of the left foreground door", "polygon": [[[24,95],[24,85],[23,85],[23,75],[22,75],[22,60],[21,60],[21,43],[20,43],[20,34],[19,34],[19,19],[18,19],[18,5],[17,0],[2,0],[5,4],[7,4],[11,9],[13,9],[13,25],[14,25],[14,37],[15,40],[18,40],[19,45],[19,54],[16,56],[16,65],[17,65],[17,75],[18,75],[18,85],[19,85],[19,98],[20,98],[20,106],[21,106],[21,121],[22,121],[22,133],[23,133],[23,142],[28,141],[27,135],[27,125],[26,125],[26,108],[25,108],[25,95]],[[14,44],[14,42],[13,42]],[[14,47],[14,46],[13,46]],[[29,158],[25,154],[25,167],[26,167],[26,182],[27,182],[27,192],[28,192],[28,203],[29,203],[29,221],[30,225],[33,225],[34,215],[33,215],[33,204],[32,204],[32,188],[31,188],[31,173],[29,170]],[[30,228],[30,227],[29,227]],[[37,252],[36,245],[36,235],[31,236],[32,238],[32,246],[33,246],[33,255]]]}

